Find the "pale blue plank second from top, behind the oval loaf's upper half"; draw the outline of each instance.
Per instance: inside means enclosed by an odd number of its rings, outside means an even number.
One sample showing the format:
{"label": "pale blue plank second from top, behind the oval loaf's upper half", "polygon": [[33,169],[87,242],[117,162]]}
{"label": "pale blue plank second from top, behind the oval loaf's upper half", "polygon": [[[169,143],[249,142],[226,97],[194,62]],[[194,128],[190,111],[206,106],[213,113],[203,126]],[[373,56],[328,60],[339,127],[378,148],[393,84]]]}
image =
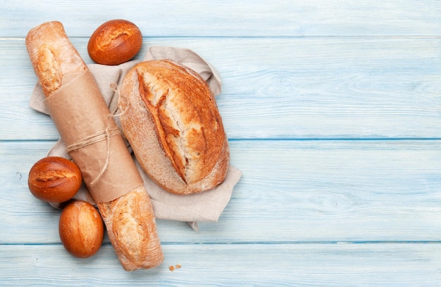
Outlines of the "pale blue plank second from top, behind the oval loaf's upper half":
{"label": "pale blue plank second from top, behind the oval loaf's upper half", "polygon": [[[87,39],[73,39],[84,58]],[[147,39],[182,46],[223,77],[230,139],[433,138],[441,134],[441,39]],[[28,108],[23,39],[0,40],[0,139],[57,139]],[[90,63],[90,60],[89,60]]]}

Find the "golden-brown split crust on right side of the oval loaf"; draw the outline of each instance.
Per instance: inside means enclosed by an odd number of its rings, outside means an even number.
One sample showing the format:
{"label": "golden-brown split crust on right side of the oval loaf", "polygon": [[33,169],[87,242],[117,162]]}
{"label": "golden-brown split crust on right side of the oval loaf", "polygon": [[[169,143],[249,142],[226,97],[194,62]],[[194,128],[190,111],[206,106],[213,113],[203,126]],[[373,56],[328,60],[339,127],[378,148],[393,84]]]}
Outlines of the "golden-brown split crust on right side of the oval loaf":
{"label": "golden-brown split crust on right side of the oval loaf", "polygon": [[139,65],[139,91],[159,139],[180,177],[192,184],[209,173],[223,145],[221,116],[210,89],[166,61]]}

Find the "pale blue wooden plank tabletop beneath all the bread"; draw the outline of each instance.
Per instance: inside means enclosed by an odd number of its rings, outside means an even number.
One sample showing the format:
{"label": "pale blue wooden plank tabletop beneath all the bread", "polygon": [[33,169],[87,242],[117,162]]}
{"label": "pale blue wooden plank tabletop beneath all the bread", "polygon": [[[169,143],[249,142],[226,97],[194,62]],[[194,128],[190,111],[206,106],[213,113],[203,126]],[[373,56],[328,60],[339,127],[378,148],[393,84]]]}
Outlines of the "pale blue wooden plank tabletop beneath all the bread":
{"label": "pale blue wooden plank tabletop beneath all the bread", "polygon": [[[243,173],[218,222],[158,221],[165,261],[80,260],[27,189],[58,140],[29,108],[25,35],[59,20],[87,63],[106,20],[196,51]],[[441,286],[441,2],[0,3],[0,286]],[[171,265],[182,267],[171,272]]]}

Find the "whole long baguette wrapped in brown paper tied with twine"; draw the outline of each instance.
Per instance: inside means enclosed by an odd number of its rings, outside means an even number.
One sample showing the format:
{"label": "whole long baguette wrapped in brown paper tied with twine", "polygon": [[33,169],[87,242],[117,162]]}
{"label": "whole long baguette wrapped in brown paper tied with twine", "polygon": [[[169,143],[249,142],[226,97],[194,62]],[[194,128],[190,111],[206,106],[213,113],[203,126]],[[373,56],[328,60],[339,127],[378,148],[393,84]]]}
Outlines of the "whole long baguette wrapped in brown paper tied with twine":
{"label": "whole long baguette wrapped in brown paper tied with twine", "polygon": [[89,72],[61,23],[43,23],[26,47],[46,96],[45,104],[80,167],[127,271],[163,262],[154,211],[135,162]]}

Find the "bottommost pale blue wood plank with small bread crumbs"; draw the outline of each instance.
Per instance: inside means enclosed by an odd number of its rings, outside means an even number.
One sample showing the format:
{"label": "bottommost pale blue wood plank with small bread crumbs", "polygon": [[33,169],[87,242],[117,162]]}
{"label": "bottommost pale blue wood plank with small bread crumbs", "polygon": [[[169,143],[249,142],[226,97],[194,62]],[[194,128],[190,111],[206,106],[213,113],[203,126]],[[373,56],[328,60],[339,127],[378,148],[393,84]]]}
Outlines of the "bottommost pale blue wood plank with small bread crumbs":
{"label": "bottommost pale blue wood plank with small bread crumbs", "polygon": [[[124,272],[105,245],[76,259],[61,245],[0,245],[6,286],[439,286],[440,244],[163,245],[156,269]],[[256,260],[256,255],[259,259]],[[170,272],[169,266],[180,264]]]}

